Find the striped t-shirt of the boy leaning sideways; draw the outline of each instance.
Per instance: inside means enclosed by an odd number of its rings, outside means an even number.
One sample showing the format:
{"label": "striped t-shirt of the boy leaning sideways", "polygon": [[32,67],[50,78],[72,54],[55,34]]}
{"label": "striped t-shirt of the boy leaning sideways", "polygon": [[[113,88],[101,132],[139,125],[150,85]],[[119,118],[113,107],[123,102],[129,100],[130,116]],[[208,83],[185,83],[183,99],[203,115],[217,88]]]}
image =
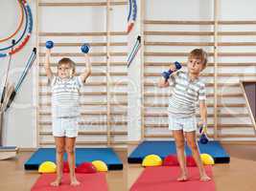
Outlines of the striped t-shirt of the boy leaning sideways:
{"label": "striped t-shirt of the boy leaning sideways", "polygon": [[206,99],[204,83],[197,78],[189,79],[189,74],[177,71],[170,76],[174,86],[173,94],[169,99],[168,111],[176,117],[191,117],[196,114],[198,100]]}

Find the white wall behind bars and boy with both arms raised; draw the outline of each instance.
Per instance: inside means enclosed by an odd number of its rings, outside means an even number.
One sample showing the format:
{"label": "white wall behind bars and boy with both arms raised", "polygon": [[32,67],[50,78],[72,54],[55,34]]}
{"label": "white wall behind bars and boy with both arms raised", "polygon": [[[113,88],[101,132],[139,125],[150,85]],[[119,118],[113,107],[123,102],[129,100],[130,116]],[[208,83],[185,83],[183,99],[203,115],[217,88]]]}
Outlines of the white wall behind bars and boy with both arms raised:
{"label": "white wall behind bars and boy with both arms raised", "polygon": [[[35,2],[34,0],[28,1],[29,5],[32,8],[34,19],[35,15],[39,13],[39,31],[40,32],[105,32],[105,7],[39,7],[39,12],[35,12]],[[43,2],[43,1],[41,1]],[[50,2],[50,1],[44,1]],[[60,1],[56,1],[60,2]],[[61,1],[64,2],[64,1]],[[78,1],[66,1],[66,2],[78,2]],[[81,1],[80,1],[81,2]],[[86,2],[86,1],[82,1]],[[92,1],[87,1],[92,2]],[[6,22],[1,24],[0,26],[0,38],[7,36],[10,32],[12,32],[17,25],[17,17],[19,11],[17,10],[18,5],[16,1],[1,1],[1,12],[0,15],[2,18],[6,18]],[[12,13],[11,13],[12,12]],[[117,6],[112,7],[110,11],[110,31],[118,31],[125,32],[127,25],[127,9],[126,6]],[[34,23],[35,25],[37,23]],[[34,25],[34,26],[35,26]],[[11,74],[10,80],[16,82],[18,75],[21,74],[25,63],[32,52],[33,47],[35,46],[35,28],[33,32],[33,36],[29,41],[29,44],[26,45],[21,52],[13,55],[12,66],[11,66]],[[103,42],[105,41],[105,36],[79,36],[79,37],[45,37],[42,36],[39,38],[41,43],[44,43],[48,39],[54,40],[56,43],[58,42]],[[127,42],[127,37],[124,36],[111,36],[111,42]],[[4,46],[1,44],[1,47]],[[44,53],[45,49],[42,47],[38,52]],[[80,53],[80,47],[57,47],[54,50],[55,53]],[[105,47],[93,47],[92,53],[104,53]],[[127,46],[123,47],[111,47],[111,52],[127,52]],[[60,57],[53,57],[52,61],[57,62]],[[82,57],[72,57],[76,62],[82,62]],[[124,61],[126,60],[126,56],[112,56],[111,61]],[[40,63],[43,61],[43,56],[38,56],[38,60]],[[94,56],[91,57],[92,62],[105,61],[104,56]],[[8,58],[1,58],[1,70],[0,76],[1,79],[5,74],[6,66],[8,63]],[[81,72],[84,67],[78,67],[78,72]],[[54,69],[55,70],[55,69]],[[93,67],[93,72],[99,73],[104,72],[105,67]],[[111,72],[127,72],[126,67],[123,66],[111,66]],[[38,86],[37,80],[37,72],[44,73],[42,67],[37,71],[36,68],[33,68],[30,74],[26,77],[20,92],[15,98],[14,104],[12,104],[12,108],[7,112],[5,117],[5,132],[4,132],[4,145],[16,145],[18,147],[35,147],[36,146],[36,117],[35,117],[35,107],[37,106],[36,99],[36,88]],[[121,79],[120,79],[121,78]],[[45,77],[39,77],[44,81]],[[101,76],[92,76],[88,79],[88,82],[101,82],[105,80],[104,77]],[[111,80],[115,81],[127,81],[126,76],[115,76],[111,77]],[[41,92],[49,92],[49,87],[43,87]],[[105,91],[105,87],[84,87],[82,89],[84,92],[90,91]],[[112,87],[111,91],[115,92],[127,92],[127,87]],[[105,97],[82,97],[82,99],[86,99],[85,101],[105,101]],[[126,101],[127,97],[112,97],[111,101]],[[39,97],[39,102],[49,102],[49,97]],[[43,111],[39,110],[39,111]],[[99,110],[97,108],[84,108],[85,110],[93,111]],[[105,110],[105,107],[102,107]],[[126,110],[126,107],[114,107],[111,106],[112,110]],[[49,108],[46,108],[49,111]],[[86,111],[85,111],[86,112]],[[117,117],[118,118],[118,117]],[[113,120],[116,118],[114,117]],[[49,117],[40,117],[39,121],[49,121]],[[85,121],[93,122],[93,121],[104,121],[105,117],[95,118],[95,117],[86,117]],[[117,120],[127,121],[127,117],[121,117]],[[103,126],[84,126],[81,127],[82,130],[105,130]],[[111,127],[112,129],[124,130],[127,131],[127,126],[116,126]],[[51,130],[50,126],[44,126],[41,129],[43,130]],[[95,139],[104,140],[105,138],[101,137],[93,137],[90,136],[86,138],[86,140],[95,140]],[[116,139],[116,137],[115,137]],[[119,136],[117,140],[126,140],[127,136]],[[52,136],[45,137],[45,140],[53,140]],[[81,138],[81,141],[83,139]]]}

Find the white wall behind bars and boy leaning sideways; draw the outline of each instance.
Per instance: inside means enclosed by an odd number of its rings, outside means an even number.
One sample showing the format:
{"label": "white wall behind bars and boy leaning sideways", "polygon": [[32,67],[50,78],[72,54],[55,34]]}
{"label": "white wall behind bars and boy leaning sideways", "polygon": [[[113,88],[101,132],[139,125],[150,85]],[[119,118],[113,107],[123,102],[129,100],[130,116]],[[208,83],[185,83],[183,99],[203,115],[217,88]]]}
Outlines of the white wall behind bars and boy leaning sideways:
{"label": "white wall behind bars and boy leaning sideways", "polygon": [[[204,0],[146,0],[145,2],[145,19],[146,20],[175,20],[175,21],[209,21],[214,19],[214,1],[204,1]],[[245,1],[219,1],[219,20],[255,20],[255,14],[253,8],[255,7],[256,2],[252,0]],[[140,11],[140,9],[138,9]],[[138,12],[140,15],[140,12]],[[140,19],[137,19],[136,25],[138,26]],[[131,33],[129,39],[135,39],[137,33],[142,33],[139,27],[136,28],[137,31]],[[144,25],[145,31],[162,31],[162,32],[212,32],[213,26],[202,26],[202,25]],[[255,32],[255,25],[230,25],[230,26],[219,26],[220,32]],[[184,35],[147,35],[145,36],[145,41],[149,42],[214,42],[213,36],[184,36]],[[255,36],[220,36],[220,42],[255,42]],[[145,53],[189,53],[191,50],[195,49],[195,46],[146,46]],[[213,53],[213,47],[202,47],[207,52]],[[255,46],[236,46],[236,47],[220,47],[219,50],[221,53],[255,53]],[[139,59],[138,57],[136,59]],[[186,62],[186,56],[145,56],[145,62],[174,62],[175,60]],[[218,60],[220,63],[223,62],[255,62],[255,56],[221,56]],[[209,58],[209,62],[213,62],[213,57]],[[142,64],[142,63],[141,63]],[[136,67],[131,68],[129,73],[130,78],[138,80],[137,70],[140,69],[139,63],[134,62],[133,65]],[[166,67],[145,67],[145,73],[161,73],[165,70]],[[213,67],[208,67],[204,72],[213,73]],[[242,73],[244,76],[233,76],[233,77],[219,77],[218,80],[220,83],[237,83],[239,80],[244,79],[255,79],[255,76],[246,76],[246,74],[256,74],[256,67],[220,67],[219,74],[234,74]],[[146,76],[143,78],[147,82],[157,82],[158,78],[155,76]],[[205,82],[213,82],[213,77],[203,77]],[[138,85],[139,86],[139,85]],[[207,88],[208,93],[213,93],[213,88]],[[220,94],[229,94],[229,93],[242,93],[240,87],[222,87],[219,89]],[[170,94],[170,90],[161,90],[157,87],[145,87],[146,93],[157,93],[157,94]],[[139,97],[134,96],[134,97]],[[219,98],[220,103],[245,103],[244,97],[221,97]],[[136,99],[133,99],[133,104],[136,102]],[[145,97],[144,102],[147,103],[168,103],[168,98],[160,97]],[[213,97],[209,97],[207,100],[208,103],[213,103]],[[136,105],[138,108],[139,104]],[[167,108],[166,108],[167,109]],[[166,114],[165,108],[146,108],[145,113],[148,114]],[[230,108],[223,107],[219,108],[221,114],[247,114],[246,108]],[[209,107],[208,112],[213,114],[213,108]],[[135,116],[133,114],[132,116]],[[137,120],[140,121],[141,118],[137,117]],[[213,117],[208,118],[209,123],[213,123]],[[219,123],[222,124],[251,124],[249,117],[219,117]],[[167,117],[145,117],[145,123],[147,124],[168,124]],[[141,128],[140,124],[134,123],[129,126],[129,140],[140,140]],[[171,132],[167,129],[157,129],[149,128],[146,130],[148,134],[151,135],[170,135]],[[209,129],[211,134],[213,131],[212,128]],[[225,128],[219,130],[221,135],[240,135],[247,134],[250,136],[254,135],[253,129],[250,128]],[[221,138],[221,139],[255,139],[255,138]]]}

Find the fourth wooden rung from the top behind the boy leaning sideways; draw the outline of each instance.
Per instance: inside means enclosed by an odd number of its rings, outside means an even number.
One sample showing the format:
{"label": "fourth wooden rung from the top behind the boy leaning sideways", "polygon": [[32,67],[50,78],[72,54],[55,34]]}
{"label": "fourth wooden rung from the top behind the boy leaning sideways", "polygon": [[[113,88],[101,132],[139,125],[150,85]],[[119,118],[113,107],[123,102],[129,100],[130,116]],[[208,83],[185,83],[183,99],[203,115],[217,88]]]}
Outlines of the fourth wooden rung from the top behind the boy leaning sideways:
{"label": "fourth wooden rung from the top behind the boy leaning sideways", "polygon": [[[145,56],[188,56],[188,53],[156,53],[145,52]],[[219,56],[256,56],[256,53],[218,53]],[[214,53],[208,53],[208,56],[214,56]]]}

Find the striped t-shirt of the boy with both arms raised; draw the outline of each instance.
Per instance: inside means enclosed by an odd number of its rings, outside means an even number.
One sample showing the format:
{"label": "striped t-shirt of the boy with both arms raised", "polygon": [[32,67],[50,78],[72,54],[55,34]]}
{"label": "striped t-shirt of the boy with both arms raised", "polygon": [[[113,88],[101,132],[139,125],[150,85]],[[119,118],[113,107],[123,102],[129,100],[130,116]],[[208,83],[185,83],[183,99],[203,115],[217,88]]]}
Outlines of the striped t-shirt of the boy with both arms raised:
{"label": "striped t-shirt of the boy with both arms raised", "polygon": [[61,79],[54,76],[51,86],[53,117],[79,117],[81,77]]}

